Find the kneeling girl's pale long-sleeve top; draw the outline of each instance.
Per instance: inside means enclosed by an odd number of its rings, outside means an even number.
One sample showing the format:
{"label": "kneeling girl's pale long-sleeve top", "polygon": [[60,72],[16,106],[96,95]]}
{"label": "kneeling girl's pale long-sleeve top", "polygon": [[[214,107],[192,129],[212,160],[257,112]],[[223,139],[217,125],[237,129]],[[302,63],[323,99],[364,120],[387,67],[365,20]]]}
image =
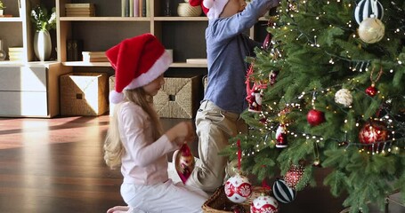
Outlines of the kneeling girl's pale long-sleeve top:
{"label": "kneeling girl's pale long-sleeve top", "polygon": [[154,185],[166,182],[167,156],[179,146],[163,135],[154,141],[150,117],[132,102],[123,103],[117,114],[118,129],[126,154],[121,161],[124,183]]}

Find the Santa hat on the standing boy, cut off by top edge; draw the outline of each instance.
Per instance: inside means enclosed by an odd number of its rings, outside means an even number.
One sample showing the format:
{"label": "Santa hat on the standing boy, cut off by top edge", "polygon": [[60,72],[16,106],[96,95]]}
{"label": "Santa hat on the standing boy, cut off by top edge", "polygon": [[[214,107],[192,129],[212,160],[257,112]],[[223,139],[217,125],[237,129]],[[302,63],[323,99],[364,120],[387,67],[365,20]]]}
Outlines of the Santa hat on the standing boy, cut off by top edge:
{"label": "Santa hat on the standing boy, cut off by top edge", "polygon": [[191,6],[201,5],[209,20],[218,19],[229,0],[189,0]]}

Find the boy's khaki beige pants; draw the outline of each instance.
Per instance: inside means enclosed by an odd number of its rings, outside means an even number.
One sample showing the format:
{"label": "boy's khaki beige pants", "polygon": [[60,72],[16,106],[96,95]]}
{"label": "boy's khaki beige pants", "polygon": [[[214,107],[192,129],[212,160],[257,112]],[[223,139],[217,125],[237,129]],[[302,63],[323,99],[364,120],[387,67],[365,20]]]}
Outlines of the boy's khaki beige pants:
{"label": "boy's khaki beige pants", "polygon": [[201,165],[192,171],[186,185],[193,185],[208,193],[223,185],[228,158],[218,153],[229,145],[228,140],[239,132],[247,132],[247,125],[239,114],[223,111],[211,101],[204,100],[196,115],[198,157]]}

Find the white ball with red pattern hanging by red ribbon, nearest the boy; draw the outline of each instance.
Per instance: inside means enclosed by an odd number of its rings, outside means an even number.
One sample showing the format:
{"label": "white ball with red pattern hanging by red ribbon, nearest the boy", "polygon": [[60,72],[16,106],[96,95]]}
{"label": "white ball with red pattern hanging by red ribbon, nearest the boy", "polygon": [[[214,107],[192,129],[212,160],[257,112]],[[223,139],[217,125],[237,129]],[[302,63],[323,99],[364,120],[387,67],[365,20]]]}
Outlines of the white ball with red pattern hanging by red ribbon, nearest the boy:
{"label": "white ball with red pattern hanging by red ribbon, nearest the boy", "polygon": [[252,184],[247,177],[237,174],[226,181],[224,190],[230,201],[241,203],[247,201],[252,194]]}

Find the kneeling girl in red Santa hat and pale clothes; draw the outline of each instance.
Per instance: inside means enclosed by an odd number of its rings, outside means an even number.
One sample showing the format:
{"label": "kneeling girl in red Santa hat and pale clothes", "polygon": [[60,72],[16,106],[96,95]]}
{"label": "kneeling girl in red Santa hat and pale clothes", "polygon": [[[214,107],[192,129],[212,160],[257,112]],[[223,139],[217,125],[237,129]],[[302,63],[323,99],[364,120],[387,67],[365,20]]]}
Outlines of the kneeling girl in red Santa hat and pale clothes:
{"label": "kneeling girl in red Santa hat and pale clothes", "polygon": [[167,174],[167,156],[194,139],[191,122],[180,122],[162,133],[153,96],[165,83],[163,73],[172,63],[155,36],[126,39],[106,51],[116,71],[109,100],[117,104],[104,144],[104,160],[121,168],[121,195],[128,207],[108,212],[201,212],[203,191],[174,184]]}

